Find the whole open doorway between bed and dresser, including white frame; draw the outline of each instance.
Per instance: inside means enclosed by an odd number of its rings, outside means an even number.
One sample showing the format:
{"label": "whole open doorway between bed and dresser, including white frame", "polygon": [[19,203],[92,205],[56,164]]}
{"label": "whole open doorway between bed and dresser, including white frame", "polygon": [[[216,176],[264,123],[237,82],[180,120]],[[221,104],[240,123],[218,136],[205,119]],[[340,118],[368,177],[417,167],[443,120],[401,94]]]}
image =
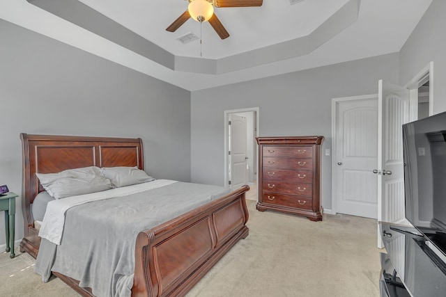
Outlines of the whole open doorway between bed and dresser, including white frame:
{"label": "whole open doorway between bed and dresser, including white frame", "polygon": [[259,108],[224,111],[224,183],[231,188],[249,184],[247,199],[257,199]]}

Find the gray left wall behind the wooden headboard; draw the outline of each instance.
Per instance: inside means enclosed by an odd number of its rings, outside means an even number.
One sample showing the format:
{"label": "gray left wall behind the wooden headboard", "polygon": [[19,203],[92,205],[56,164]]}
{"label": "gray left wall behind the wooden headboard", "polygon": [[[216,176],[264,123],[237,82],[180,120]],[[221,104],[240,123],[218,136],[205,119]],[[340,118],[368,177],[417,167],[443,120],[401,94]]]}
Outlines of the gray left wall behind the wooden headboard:
{"label": "gray left wall behind the wooden headboard", "polygon": [[0,185],[21,193],[21,132],[140,137],[146,172],[190,182],[189,91],[1,19],[0,40]]}

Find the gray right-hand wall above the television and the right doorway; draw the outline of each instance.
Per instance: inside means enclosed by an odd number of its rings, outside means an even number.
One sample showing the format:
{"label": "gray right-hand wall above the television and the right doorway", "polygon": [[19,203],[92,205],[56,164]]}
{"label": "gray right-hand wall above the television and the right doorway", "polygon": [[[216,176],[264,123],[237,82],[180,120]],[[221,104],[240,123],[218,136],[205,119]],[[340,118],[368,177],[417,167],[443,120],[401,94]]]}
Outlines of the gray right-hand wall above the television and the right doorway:
{"label": "gray right-hand wall above the television and the right doorway", "polygon": [[446,111],[445,14],[446,1],[433,0],[399,55],[401,86],[433,61],[433,113]]}

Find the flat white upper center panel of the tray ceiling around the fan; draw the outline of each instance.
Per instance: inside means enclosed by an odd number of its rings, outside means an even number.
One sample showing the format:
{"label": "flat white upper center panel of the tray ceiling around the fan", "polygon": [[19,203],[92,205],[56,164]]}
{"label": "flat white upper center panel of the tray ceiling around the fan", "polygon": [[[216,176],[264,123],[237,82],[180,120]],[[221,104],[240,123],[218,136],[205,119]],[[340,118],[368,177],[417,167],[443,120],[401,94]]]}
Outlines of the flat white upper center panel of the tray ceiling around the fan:
{"label": "flat white upper center panel of the tray ceiling around the fan", "polygon": [[[165,30],[187,9],[187,0],[81,2],[176,56],[199,57],[199,40],[187,45],[176,40],[190,32],[200,36],[199,22],[189,19],[174,33]],[[209,23],[203,23],[203,58],[223,58],[309,35],[347,2],[307,0],[291,6],[289,0],[263,0],[260,7],[215,8],[230,37],[221,40]]]}

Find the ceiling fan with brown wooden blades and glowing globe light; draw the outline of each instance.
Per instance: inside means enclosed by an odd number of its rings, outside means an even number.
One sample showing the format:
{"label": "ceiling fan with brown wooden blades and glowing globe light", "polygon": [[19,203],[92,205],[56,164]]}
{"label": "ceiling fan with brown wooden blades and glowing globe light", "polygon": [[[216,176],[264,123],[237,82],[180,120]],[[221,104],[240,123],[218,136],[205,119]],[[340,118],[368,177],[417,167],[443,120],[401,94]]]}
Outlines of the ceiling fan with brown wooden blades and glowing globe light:
{"label": "ceiling fan with brown wooden blades and glowing globe light", "polygon": [[262,6],[263,0],[188,0],[189,6],[187,10],[178,17],[166,31],[175,32],[187,19],[192,18],[197,22],[209,22],[220,38],[229,37],[228,31],[224,29],[223,24],[214,13],[214,6],[220,7],[252,7]]}

